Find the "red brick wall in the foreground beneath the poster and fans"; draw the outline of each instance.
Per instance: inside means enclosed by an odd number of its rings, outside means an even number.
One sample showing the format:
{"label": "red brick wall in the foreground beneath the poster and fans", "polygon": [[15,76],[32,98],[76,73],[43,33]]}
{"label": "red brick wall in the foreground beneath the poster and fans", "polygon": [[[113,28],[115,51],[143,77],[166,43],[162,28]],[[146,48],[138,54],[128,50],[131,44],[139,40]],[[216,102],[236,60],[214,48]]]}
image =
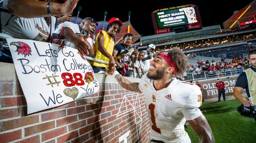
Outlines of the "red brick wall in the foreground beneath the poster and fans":
{"label": "red brick wall in the foreground beneath the poster and fans", "polygon": [[148,142],[144,95],[123,89],[112,76],[99,80],[96,94],[27,115],[14,65],[0,66],[0,143],[118,143],[128,131],[128,143]]}

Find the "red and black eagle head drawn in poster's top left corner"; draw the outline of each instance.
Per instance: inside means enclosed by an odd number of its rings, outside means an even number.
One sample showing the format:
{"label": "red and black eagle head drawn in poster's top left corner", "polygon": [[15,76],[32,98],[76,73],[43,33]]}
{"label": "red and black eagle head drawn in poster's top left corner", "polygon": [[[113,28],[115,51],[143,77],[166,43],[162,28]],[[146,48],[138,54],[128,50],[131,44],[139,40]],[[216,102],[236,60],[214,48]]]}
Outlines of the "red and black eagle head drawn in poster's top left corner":
{"label": "red and black eagle head drawn in poster's top left corner", "polygon": [[18,54],[23,54],[24,57],[31,54],[31,48],[28,44],[24,42],[12,42],[10,45],[15,45],[17,47],[17,50],[15,52],[18,52]]}

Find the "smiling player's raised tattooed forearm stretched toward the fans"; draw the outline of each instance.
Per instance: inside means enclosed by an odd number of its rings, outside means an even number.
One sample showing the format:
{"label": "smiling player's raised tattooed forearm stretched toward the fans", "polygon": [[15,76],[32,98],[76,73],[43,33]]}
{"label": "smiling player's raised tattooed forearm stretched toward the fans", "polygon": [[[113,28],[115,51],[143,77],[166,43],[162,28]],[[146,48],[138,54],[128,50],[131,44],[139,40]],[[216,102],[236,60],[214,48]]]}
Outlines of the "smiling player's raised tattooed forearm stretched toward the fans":
{"label": "smiling player's raised tattooed forearm stretched toward the fans", "polygon": [[128,79],[122,77],[120,74],[116,75],[115,79],[121,85],[121,87],[135,92],[141,92],[139,89],[139,83],[132,83]]}

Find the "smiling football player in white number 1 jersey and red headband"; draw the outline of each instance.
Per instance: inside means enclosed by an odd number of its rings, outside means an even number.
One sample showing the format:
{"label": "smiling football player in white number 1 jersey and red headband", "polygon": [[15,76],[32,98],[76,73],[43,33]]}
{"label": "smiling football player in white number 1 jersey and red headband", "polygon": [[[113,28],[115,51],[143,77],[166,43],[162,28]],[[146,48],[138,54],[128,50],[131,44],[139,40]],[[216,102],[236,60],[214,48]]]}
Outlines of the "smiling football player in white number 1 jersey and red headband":
{"label": "smiling football player in white number 1 jersey and red headband", "polygon": [[144,94],[151,118],[150,140],[153,143],[191,143],[184,129],[186,120],[199,136],[200,142],[214,142],[211,128],[198,109],[202,104],[199,87],[173,78],[174,75],[183,77],[188,65],[186,55],[179,48],[173,48],[155,56],[140,83],[131,83],[115,68],[106,70],[115,76],[123,88]]}

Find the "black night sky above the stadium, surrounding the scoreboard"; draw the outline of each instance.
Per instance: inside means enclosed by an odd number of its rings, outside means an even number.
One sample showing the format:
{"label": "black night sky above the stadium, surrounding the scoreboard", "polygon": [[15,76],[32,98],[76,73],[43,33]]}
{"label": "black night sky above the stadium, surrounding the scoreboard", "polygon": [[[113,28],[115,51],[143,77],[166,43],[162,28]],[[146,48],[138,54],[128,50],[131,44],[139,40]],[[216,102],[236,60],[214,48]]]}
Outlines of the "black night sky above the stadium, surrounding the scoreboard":
{"label": "black night sky above the stadium, surrounding the scoreboard", "polygon": [[[97,21],[104,20],[104,12],[107,11],[108,15],[106,21],[112,17],[118,17],[121,21],[128,21],[128,12],[131,11],[130,21],[135,30],[143,35],[154,35],[154,28],[151,18],[151,13],[157,9],[163,9],[174,6],[181,6],[187,4],[197,5],[202,19],[202,26],[211,26],[220,24],[230,18],[233,12],[241,10],[252,0],[157,0],[155,3],[138,4],[137,1],[105,1],[100,2],[97,0],[85,1],[80,0],[77,4],[82,7],[79,17],[92,17]],[[120,3],[124,3],[120,5]],[[140,2],[141,3],[141,2]],[[148,6],[146,6],[148,5]],[[74,9],[73,15],[77,15],[77,8]]]}

